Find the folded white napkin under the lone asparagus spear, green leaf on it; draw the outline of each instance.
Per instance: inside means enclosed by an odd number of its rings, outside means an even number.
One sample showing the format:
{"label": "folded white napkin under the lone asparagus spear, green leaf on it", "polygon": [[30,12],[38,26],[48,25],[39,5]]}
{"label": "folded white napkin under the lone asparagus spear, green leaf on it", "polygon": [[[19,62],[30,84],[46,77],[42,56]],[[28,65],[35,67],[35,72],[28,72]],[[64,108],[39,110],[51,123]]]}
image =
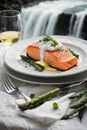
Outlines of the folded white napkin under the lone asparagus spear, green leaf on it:
{"label": "folded white napkin under the lone asparagus spear, green leaf on it", "polygon": [[[41,106],[30,109],[26,111],[21,111],[18,109],[18,114],[24,117],[32,118],[36,121],[41,122],[42,124],[50,124],[57,120],[60,120],[65,113],[67,112],[70,104],[69,96],[73,93],[63,96],[59,99],[55,99],[52,101],[47,101]],[[19,100],[17,100],[17,103]],[[58,109],[53,109],[53,103],[56,102],[58,104]]]}

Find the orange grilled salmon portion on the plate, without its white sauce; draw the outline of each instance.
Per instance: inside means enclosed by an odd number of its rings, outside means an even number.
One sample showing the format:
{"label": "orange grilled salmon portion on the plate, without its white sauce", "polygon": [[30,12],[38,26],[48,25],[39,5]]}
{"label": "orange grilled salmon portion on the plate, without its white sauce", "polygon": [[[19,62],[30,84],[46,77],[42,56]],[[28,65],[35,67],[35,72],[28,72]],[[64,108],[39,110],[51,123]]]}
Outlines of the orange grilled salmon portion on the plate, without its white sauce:
{"label": "orange grilled salmon portion on the plate, without its white sauce", "polygon": [[[26,52],[31,58],[40,60],[39,41],[29,45]],[[60,70],[68,70],[78,64],[78,59],[64,45],[55,51],[45,50],[43,60],[48,65]]]}

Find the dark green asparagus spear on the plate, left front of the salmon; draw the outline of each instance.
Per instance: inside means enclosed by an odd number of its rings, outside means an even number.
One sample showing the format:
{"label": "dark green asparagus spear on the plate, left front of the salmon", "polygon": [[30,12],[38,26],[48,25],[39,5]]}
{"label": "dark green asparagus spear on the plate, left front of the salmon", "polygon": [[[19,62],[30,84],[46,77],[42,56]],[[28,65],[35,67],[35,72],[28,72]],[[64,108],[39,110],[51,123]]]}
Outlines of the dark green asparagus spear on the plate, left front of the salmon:
{"label": "dark green asparagus spear on the plate, left front of the salmon", "polygon": [[31,59],[31,58],[29,58],[29,57],[27,57],[27,56],[24,56],[24,55],[21,55],[21,58],[22,58],[24,61],[30,63],[30,64],[31,64],[34,68],[36,68],[38,71],[42,72],[42,71],[44,70],[44,66],[37,64],[33,59]]}

